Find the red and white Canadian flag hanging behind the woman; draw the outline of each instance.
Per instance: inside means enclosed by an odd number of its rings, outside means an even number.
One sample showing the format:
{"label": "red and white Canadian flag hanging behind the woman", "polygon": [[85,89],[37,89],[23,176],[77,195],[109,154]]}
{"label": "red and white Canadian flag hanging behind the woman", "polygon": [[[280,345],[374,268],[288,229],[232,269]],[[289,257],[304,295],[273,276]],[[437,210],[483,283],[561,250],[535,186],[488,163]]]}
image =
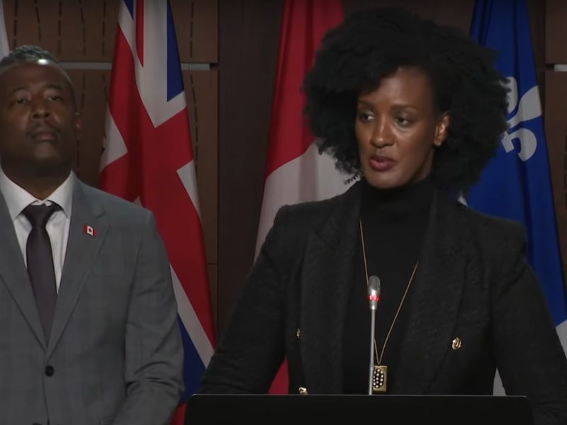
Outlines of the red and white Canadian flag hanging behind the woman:
{"label": "red and white Canadian flag hanging behind the woman", "polygon": [[[322,36],[342,18],[340,0],[284,3],[256,256],[281,206],[330,198],[349,186],[345,183],[347,176],[335,169],[334,159],[318,153],[303,115],[305,96],[301,92]],[[270,392],[288,392],[285,363]]]}

